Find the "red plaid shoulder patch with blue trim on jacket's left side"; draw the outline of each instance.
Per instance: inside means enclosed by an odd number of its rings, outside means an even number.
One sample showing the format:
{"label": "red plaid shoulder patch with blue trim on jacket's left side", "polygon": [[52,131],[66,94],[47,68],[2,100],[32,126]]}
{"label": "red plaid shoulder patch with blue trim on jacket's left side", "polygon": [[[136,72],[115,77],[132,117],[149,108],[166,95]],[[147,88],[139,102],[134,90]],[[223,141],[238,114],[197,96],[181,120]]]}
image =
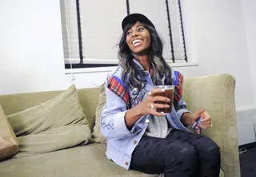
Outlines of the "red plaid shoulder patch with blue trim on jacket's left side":
{"label": "red plaid shoulder patch with blue trim on jacket's left side", "polygon": [[122,98],[126,103],[126,108],[130,108],[129,92],[126,91],[124,83],[118,77],[110,77],[108,81],[108,88],[117,96]]}

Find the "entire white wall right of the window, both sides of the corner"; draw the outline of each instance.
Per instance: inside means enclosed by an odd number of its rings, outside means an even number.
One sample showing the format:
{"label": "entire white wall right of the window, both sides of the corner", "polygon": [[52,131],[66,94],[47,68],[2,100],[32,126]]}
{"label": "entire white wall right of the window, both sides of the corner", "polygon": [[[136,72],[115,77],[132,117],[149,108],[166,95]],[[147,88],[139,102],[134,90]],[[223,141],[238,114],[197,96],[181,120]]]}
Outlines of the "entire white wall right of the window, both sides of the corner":
{"label": "entire white wall right of the window, both sides of the corner", "polygon": [[[256,6],[254,0],[182,1],[188,48],[199,66],[180,69],[186,77],[231,73],[236,78],[238,144],[255,142],[256,120]],[[185,3],[184,3],[185,2]],[[192,29],[192,30],[191,30]],[[194,35],[191,31],[194,31]],[[195,45],[195,46],[194,46]],[[196,52],[195,52],[196,51]]]}

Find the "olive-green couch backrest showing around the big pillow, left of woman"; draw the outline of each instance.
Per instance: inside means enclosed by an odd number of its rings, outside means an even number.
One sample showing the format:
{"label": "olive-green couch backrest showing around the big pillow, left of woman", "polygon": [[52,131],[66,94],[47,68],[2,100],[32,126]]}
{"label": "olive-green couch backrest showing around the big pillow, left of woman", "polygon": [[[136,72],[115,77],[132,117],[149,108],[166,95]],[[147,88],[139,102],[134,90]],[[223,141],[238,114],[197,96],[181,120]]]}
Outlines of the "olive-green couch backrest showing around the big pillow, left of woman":
{"label": "olive-green couch backrest showing around the big pillow, left of woman", "polygon": [[[6,116],[34,107],[58,96],[63,91],[29,92],[0,96],[0,104]],[[92,132],[95,124],[95,110],[98,105],[100,88],[78,89],[78,96]]]}

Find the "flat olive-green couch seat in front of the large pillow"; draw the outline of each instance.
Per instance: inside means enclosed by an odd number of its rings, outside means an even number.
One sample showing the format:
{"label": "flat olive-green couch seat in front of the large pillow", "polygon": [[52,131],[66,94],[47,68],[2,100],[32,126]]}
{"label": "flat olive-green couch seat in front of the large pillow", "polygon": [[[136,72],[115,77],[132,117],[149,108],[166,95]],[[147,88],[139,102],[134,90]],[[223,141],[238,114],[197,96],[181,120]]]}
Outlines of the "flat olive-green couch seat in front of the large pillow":
{"label": "flat olive-green couch seat in front of the large pillow", "polygon": [[0,176],[158,176],[126,171],[106,159],[105,151],[105,144],[88,144],[42,155],[8,159],[0,163]]}

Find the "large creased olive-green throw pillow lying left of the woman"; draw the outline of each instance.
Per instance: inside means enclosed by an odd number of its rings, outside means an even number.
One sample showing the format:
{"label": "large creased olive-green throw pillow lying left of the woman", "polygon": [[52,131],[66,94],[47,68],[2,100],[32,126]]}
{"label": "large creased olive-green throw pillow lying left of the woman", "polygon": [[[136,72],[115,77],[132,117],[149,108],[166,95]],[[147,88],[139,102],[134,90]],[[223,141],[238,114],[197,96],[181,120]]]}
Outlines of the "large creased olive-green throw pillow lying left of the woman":
{"label": "large creased olive-green throw pillow lying left of the woman", "polygon": [[90,140],[90,128],[74,85],[65,92],[7,116],[20,143],[20,151],[44,153]]}

